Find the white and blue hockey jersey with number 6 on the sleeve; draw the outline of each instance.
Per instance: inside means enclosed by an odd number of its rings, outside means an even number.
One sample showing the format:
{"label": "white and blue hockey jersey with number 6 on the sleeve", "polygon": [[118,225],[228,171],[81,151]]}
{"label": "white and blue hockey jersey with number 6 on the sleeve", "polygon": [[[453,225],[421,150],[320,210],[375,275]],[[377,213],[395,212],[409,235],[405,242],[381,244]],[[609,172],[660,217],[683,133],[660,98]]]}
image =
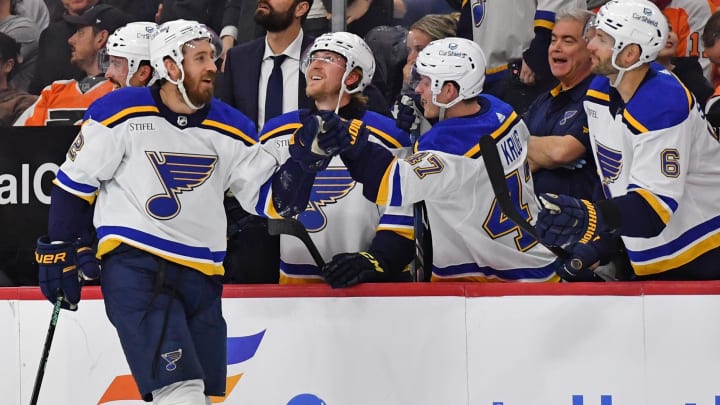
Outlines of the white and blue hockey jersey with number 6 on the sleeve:
{"label": "white and blue hockey jersey with number 6 on the sleeve", "polygon": [[606,197],[638,193],[666,224],[655,237],[622,237],[635,273],[661,273],[717,249],[720,144],[690,92],[667,70],[651,69],[624,106],[605,77],[593,80],[584,105]]}

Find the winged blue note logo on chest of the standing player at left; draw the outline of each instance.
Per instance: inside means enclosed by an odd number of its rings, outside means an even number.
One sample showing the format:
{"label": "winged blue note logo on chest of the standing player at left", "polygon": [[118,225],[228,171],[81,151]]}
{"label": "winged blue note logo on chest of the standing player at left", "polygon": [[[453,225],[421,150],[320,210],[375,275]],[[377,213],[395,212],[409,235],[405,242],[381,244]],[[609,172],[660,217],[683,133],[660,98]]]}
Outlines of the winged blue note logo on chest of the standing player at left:
{"label": "winged blue note logo on chest of the standing player at left", "polygon": [[180,213],[178,195],[199,187],[210,178],[217,156],[184,153],[145,152],[165,190],[148,199],[147,212],[157,219],[171,219]]}

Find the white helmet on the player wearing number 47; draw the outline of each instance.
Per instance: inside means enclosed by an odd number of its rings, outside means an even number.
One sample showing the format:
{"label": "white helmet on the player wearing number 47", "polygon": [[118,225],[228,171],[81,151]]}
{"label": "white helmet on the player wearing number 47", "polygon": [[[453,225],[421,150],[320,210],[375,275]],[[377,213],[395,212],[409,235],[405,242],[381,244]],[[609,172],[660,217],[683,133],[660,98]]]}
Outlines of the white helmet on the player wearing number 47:
{"label": "white helmet on the player wearing number 47", "polygon": [[[465,38],[448,37],[430,42],[417,57],[415,67],[420,76],[430,79],[433,104],[450,108],[462,100],[476,97],[485,83],[487,62],[480,45]],[[442,86],[458,86],[458,97],[447,103],[437,101]]]}

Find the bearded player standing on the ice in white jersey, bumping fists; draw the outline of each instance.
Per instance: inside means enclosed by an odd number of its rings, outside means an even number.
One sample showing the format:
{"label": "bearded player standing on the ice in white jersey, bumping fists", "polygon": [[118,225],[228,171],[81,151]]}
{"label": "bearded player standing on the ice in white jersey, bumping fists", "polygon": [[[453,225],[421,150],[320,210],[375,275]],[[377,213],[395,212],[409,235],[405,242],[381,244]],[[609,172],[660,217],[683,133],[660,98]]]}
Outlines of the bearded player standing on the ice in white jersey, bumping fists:
{"label": "bearded player standing on the ice in white jersey, bumping fists", "polygon": [[[150,56],[161,82],[88,109],[54,181],[36,258],[43,294],[69,310],[79,277],[100,276],[100,258],[105,310],[142,398],[205,405],[226,390],[224,192],[279,218],[307,206],[315,175],[295,160],[278,167],[253,140],[253,122],[213,99],[219,41],[206,26],[176,20],[157,31]],[[298,156],[310,166],[328,158]]]}

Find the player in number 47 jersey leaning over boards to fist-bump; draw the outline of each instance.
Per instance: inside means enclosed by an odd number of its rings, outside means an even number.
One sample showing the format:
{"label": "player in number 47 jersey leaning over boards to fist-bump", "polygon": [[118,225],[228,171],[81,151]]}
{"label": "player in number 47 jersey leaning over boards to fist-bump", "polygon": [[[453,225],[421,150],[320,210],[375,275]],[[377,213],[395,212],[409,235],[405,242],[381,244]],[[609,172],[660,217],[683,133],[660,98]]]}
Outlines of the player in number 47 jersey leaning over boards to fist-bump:
{"label": "player in number 47 jersey leaning over boards to fist-bump", "polygon": [[[418,56],[424,115],[439,120],[405,159],[364,142],[349,126],[341,154],[363,194],[380,205],[425,201],[432,281],[556,281],[554,255],[508,220],[496,203],[478,140],[497,140],[512,198],[528,220],[539,210],[527,164],[527,127],[512,108],[481,94],[485,56],[463,38],[431,42]],[[427,266],[426,264],[426,267]]]}

